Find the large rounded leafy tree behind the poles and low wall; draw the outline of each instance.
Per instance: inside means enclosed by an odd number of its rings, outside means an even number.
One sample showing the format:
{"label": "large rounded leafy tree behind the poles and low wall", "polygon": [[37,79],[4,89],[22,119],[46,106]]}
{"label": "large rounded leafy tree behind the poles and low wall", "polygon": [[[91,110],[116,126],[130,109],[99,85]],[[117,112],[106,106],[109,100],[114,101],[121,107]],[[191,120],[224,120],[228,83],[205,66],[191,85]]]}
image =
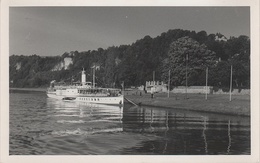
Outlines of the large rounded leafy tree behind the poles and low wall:
{"label": "large rounded leafy tree behind the poles and low wall", "polygon": [[[186,62],[187,77],[192,78],[189,85],[203,85],[198,83],[201,73],[205,72],[206,67],[212,67],[216,64],[215,53],[208,50],[205,44],[185,36],[172,42],[168,52],[168,57],[163,64],[163,78],[168,79],[168,71],[171,71],[171,82],[175,85],[184,85],[186,81]],[[204,80],[205,81],[205,80]]]}

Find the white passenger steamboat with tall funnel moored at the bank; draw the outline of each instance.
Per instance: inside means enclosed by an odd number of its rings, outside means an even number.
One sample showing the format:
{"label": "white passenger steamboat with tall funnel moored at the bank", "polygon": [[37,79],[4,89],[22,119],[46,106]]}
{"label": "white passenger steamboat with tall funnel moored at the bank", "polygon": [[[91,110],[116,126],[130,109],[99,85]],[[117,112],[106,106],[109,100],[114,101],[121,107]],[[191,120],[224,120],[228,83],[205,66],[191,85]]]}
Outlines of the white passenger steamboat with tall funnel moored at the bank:
{"label": "white passenger steamboat with tall funnel moored at the bank", "polygon": [[56,83],[52,81],[47,90],[47,96],[50,98],[65,101],[82,101],[99,104],[124,104],[124,96],[120,89],[113,88],[94,88],[91,82],[86,82],[86,74],[83,69],[81,73],[81,83]]}

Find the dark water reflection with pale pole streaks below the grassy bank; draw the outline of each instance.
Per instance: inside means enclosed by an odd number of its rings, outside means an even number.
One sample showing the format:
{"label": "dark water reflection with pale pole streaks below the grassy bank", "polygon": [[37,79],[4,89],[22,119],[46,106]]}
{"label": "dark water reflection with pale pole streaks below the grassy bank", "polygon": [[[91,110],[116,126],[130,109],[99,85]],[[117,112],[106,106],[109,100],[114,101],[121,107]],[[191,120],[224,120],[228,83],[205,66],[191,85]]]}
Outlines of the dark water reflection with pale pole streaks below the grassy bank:
{"label": "dark water reflection with pale pole streaks below the grassy bank", "polygon": [[129,108],[123,112],[123,130],[161,137],[143,142],[135,149],[138,154],[250,154],[250,120],[245,117]]}

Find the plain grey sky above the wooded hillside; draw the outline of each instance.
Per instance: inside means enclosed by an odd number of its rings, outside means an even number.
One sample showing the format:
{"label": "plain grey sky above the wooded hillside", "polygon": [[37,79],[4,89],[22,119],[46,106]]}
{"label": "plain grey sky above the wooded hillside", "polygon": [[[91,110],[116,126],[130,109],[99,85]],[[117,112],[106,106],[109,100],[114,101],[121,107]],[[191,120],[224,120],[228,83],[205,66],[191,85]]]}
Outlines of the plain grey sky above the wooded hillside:
{"label": "plain grey sky above the wooded hillside", "polygon": [[169,29],[250,36],[249,7],[10,7],[10,55],[62,55]]}

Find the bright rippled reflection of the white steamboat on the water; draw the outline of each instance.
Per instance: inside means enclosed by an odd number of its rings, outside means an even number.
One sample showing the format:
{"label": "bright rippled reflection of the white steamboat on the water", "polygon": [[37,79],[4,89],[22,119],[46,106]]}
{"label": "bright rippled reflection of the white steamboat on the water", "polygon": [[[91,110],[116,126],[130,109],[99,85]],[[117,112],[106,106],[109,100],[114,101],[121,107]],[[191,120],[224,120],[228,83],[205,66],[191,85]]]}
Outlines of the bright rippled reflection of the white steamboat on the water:
{"label": "bright rippled reflection of the white steamboat on the water", "polygon": [[[55,110],[55,114],[51,115],[52,119],[56,120],[60,127],[64,126],[64,130],[54,131],[52,133],[54,136],[86,135],[123,130],[121,125],[123,108],[119,106],[64,102],[48,98],[47,108]],[[71,130],[68,130],[69,125],[72,126]],[[75,125],[77,125],[76,130]]]}

